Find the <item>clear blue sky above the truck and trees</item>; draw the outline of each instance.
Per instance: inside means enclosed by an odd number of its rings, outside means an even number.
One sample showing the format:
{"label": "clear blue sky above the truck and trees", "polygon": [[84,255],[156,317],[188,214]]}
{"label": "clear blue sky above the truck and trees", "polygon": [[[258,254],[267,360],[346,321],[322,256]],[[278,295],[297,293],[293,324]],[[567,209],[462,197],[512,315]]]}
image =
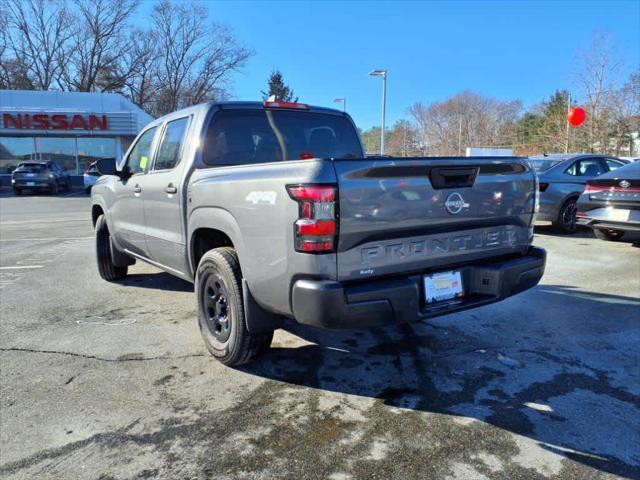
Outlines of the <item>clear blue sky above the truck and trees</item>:
{"label": "clear blue sky above the truck and trees", "polygon": [[[474,90],[539,102],[577,91],[576,54],[594,31],[612,35],[626,71],[640,64],[640,1],[206,1],[255,55],[233,76],[239,100],[260,98],[280,69],[301,102],[347,98],[358,126],[379,125],[381,79],[389,71],[387,124],[420,100]],[[146,0],[139,13],[152,2]]]}

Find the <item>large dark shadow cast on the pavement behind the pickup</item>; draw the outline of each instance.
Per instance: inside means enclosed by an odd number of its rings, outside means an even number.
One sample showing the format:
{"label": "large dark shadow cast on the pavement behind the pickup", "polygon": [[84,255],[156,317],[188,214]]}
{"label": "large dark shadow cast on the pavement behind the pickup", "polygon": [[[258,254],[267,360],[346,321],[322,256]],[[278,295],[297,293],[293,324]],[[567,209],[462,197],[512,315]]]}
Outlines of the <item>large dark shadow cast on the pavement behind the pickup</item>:
{"label": "large dark shadow cast on the pavement behind the pickup", "polygon": [[[640,478],[640,353],[632,346],[640,339],[640,300],[546,285],[527,301],[546,308],[523,308],[535,319],[491,323],[480,334],[480,324],[494,321],[486,310],[458,317],[461,326],[336,332],[291,324],[286,330],[311,343],[276,346],[244,371],[476,418],[602,472]],[[592,330],[593,318],[583,319],[603,315],[596,312],[605,313]],[[607,355],[626,357],[610,365]]]}

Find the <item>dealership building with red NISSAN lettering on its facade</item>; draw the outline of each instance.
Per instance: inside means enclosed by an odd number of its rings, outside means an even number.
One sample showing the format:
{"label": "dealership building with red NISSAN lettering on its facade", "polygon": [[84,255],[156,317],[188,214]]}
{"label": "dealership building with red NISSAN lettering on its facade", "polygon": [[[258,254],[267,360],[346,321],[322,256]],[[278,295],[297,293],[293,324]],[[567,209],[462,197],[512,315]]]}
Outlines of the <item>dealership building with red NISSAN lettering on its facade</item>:
{"label": "dealership building with red NISSAN lettering on its facade", "polygon": [[0,90],[0,174],[54,160],[81,175],[99,158],[121,159],[151,120],[115,93]]}

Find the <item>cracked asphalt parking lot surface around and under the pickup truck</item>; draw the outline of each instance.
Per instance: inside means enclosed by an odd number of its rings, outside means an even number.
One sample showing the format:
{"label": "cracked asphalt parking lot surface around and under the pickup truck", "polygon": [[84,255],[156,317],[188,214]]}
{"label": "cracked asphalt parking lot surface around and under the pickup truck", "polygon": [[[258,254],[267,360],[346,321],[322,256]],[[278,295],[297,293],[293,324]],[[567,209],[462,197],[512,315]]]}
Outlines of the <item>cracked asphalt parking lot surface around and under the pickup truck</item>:
{"label": "cracked asphalt parking lot surface around and under the pickup truck", "polygon": [[3,479],[640,479],[633,241],[540,228],[533,290],[233,370],[190,284],[98,277],[87,197],[1,197]]}

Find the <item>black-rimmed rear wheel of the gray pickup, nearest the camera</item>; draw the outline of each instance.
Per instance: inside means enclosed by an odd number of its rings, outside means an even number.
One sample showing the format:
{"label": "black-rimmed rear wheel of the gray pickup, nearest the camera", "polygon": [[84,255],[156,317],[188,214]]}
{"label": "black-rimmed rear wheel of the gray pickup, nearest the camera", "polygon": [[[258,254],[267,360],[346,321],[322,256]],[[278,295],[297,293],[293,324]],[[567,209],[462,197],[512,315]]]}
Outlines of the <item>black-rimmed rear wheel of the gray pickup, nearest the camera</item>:
{"label": "black-rimmed rear wheel of the gray pickup, nearest the camera", "polygon": [[252,334],[247,330],[242,273],[233,248],[215,248],[202,256],[195,290],[202,339],[220,362],[230,367],[243,365],[269,347],[273,332]]}

